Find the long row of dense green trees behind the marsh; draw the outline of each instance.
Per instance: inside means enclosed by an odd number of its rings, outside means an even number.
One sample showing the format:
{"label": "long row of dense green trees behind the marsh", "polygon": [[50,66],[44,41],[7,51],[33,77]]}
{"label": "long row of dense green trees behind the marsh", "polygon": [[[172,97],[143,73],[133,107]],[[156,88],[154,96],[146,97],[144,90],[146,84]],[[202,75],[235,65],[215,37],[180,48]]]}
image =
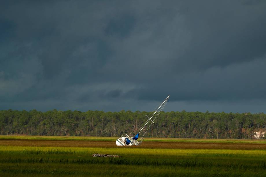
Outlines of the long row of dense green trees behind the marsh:
{"label": "long row of dense green trees behind the marsh", "polygon": [[[151,112],[0,111],[1,135],[133,136]],[[264,113],[162,111],[145,137],[252,139],[266,129]]]}

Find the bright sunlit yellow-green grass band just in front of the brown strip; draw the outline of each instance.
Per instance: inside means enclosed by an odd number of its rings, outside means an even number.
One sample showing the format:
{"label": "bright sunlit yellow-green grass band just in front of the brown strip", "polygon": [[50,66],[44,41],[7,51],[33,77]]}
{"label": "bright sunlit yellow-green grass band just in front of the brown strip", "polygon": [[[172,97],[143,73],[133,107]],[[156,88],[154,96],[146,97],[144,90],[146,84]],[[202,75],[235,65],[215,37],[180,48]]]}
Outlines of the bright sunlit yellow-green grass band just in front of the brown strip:
{"label": "bright sunlit yellow-green grass band just in front of the brown strip", "polygon": [[217,156],[262,156],[266,158],[266,150],[228,150],[228,149],[136,149],[130,147],[118,148],[74,148],[74,147],[31,147],[31,146],[0,146],[0,154],[117,154],[122,156],[184,156],[206,155]]}

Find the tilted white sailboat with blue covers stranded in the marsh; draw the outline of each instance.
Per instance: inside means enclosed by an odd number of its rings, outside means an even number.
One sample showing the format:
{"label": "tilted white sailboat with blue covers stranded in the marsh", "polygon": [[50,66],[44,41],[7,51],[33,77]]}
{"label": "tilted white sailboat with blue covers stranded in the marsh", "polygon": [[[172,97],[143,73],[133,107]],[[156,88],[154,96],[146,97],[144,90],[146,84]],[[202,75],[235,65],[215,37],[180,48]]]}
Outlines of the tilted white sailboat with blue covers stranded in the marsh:
{"label": "tilted white sailboat with blue covers stranded in the marsh", "polygon": [[[134,137],[130,137],[128,136],[126,133],[124,133],[125,135],[120,136],[117,140],[116,140],[116,145],[117,146],[138,146],[142,143],[143,140],[143,136],[145,135],[145,133],[149,130],[150,126],[152,124],[154,124],[154,121],[156,120],[156,118],[158,117],[158,115],[161,113],[162,109],[165,107],[168,99],[169,99],[170,95],[167,96],[167,98],[159,105],[159,107],[157,107],[155,109],[155,111],[152,113],[152,116],[148,117],[146,115],[146,117],[148,118],[148,120],[143,124],[143,126],[141,126],[141,128],[137,131],[137,133],[135,134]],[[157,113],[157,114],[156,114]],[[140,138],[140,141],[138,140],[138,136],[141,133],[141,131],[143,131],[143,135]]]}

